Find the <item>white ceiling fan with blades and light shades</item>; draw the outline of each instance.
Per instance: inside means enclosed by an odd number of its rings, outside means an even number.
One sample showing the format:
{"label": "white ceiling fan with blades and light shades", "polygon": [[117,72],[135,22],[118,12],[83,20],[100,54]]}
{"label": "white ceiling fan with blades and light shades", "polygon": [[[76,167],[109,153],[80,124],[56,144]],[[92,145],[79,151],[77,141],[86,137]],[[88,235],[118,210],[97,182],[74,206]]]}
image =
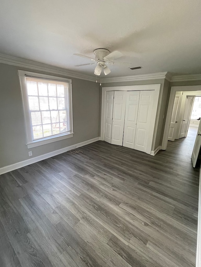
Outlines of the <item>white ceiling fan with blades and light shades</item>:
{"label": "white ceiling fan with blades and light shades", "polygon": [[[79,56],[79,57],[83,57],[83,58],[87,58],[87,59],[90,59],[90,60],[97,62],[97,66],[95,67],[95,71],[94,71],[95,75],[100,75],[102,72],[102,69],[103,69],[105,75],[109,74],[111,72],[111,70],[108,68],[108,66],[106,64],[131,65],[131,63],[127,63],[127,62],[115,61],[115,59],[123,56],[123,54],[118,52],[118,51],[113,51],[110,53],[110,51],[108,49],[98,48],[98,49],[94,50],[94,54],[95,54],[95,59],[90,58],[90,57],[85,56],[85,55],[81,55],[81,54],[74,54],[74,55]],[[81,65],[75,65],[75,67],[92,65],[92,64],[95,64],[95,62],[94,63],[81,64]]]}

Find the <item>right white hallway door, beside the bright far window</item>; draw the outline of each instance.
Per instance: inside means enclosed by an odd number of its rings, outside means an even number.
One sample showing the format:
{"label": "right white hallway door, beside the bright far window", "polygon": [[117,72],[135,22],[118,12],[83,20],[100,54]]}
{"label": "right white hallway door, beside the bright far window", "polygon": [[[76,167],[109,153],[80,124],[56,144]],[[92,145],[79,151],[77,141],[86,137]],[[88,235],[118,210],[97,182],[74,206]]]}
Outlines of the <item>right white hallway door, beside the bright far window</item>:
{"label": "right white hallway door, beside the bright far window", "polygon": [[191,113],[193,110],[193,103],[194,103],[194,96],[187,96],[186,97],[186,102],[185,102],[185,107],[184,107],[184,114],[183,114],[183,119],[182,119],[182,128],[180,131],[179,138],[186,137],[188,133],[188,127],[190,124],[190,119],[191,119]]}

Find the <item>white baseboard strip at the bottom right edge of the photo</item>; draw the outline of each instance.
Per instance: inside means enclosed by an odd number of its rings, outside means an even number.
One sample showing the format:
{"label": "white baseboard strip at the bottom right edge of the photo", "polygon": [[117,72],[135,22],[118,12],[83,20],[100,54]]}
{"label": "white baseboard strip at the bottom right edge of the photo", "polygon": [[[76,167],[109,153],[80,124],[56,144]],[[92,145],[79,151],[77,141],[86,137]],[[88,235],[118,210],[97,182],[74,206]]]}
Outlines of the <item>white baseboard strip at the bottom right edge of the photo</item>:
{"label": "white baseboard strip at the bottom right edge of the photo", "polygon": [[201,166],[200,166],[200,181],[199,181],[199,195],[198,195],[198,236],[197,236],[197,253],[196,253],[196,267],[201,266]]}

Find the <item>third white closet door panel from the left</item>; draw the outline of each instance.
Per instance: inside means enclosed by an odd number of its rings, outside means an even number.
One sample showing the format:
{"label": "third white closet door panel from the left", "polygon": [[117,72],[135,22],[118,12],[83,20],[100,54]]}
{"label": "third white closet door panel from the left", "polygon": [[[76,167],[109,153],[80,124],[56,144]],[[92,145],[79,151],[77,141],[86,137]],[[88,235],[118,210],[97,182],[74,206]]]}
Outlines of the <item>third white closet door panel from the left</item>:
{"label": "third white closet door panel from the left", "polygon": [[140,91],[128,91],[123,133],[123,146],[134,148]]}

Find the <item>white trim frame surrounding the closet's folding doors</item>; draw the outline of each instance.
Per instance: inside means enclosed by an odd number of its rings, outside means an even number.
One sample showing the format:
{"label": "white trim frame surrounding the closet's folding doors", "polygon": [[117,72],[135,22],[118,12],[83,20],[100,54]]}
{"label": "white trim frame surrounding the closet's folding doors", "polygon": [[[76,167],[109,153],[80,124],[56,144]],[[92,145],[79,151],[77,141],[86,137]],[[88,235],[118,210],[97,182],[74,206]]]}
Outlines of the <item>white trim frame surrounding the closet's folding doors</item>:
{"label": "white trim frame surrounding the closet's folding doors", "polygon": [[[154,91],[154,104],[152,109],[152,117],[150,123],[150,139],[148,140],[149,145],[147,146],[146,153],[151,154],[152,143],[156,137],[156,130],[158,126],[159,120],[159,112],[157,112],[158,108],[158,100],[160,93],[160,85],[161,84],[152,84],[152,85],[125,85],[125,86],[108,86],[102,87],[102,104],[101,104],[101,126],[100,126],[100,140],[104,141],[105,134],[105,108],[106,108],[106,92],[107,91]],[[156,114],[156,117],[154,116]],[[155,126],[156,125],[156,126]],[[151,145],[150,145],[151,143]]]}

